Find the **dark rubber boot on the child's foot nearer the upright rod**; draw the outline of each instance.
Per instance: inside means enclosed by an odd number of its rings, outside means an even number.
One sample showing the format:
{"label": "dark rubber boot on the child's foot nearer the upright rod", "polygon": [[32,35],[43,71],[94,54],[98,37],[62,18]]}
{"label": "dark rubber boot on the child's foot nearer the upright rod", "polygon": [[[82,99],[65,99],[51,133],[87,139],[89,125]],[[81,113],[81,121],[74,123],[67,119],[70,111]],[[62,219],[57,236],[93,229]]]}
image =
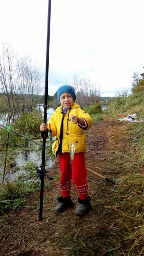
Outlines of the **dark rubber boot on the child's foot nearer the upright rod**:
{"label": "dark rubber boot on the child's foot nearer the upright rod", "polygon": [[73,206],[74,206],[74,204],[71,201],[70,196],[64,197],[64,198],[62,196],[60,196],[58,198],[58,205],[54,208],[54,212],[62,213],[65,210],[67,210],[68,208],[71,208]]}

